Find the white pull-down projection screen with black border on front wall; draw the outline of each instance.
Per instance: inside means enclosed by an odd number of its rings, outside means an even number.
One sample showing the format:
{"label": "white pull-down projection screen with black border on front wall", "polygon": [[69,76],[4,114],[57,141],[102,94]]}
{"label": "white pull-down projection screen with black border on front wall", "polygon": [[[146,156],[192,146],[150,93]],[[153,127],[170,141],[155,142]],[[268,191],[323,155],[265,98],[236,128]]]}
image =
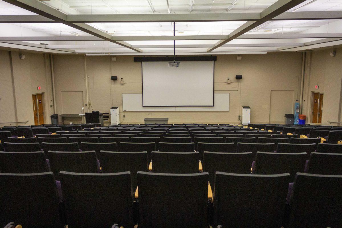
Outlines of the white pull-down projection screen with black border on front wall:
{"label": "white pull-down projection screen with black border on front wall", "polygon": [[143,106],[214,106],[214,61],[142,62]]}

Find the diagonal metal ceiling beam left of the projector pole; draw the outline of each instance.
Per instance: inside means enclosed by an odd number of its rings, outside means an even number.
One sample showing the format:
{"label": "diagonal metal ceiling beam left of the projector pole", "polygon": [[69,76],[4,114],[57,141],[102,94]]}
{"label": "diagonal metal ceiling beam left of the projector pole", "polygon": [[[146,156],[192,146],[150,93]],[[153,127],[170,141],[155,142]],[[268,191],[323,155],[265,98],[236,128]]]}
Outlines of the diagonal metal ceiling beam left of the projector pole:
{"label": "diagonal metal ceiling beam left of the projector pole", "polygon": [[126,48],[132,49],[136,52],[142,52],[140,49],[134,49],[129,43],[123,42],[123,41],[116,41],[113,40],[112,37],[103,32],[100,31],[90,25],[84,24],[84,23],[71,23],[67,21],[67,15],[59,12],[58,10],[55,10],[51,8],[48,5],[45,5],[39,1],[36,0],[4,0],[5,2],[8,2],[10,4],[19,6],[20,8],[23,8],[25,10],[34,12],[36,14],[42,15],[44,17],[50,18],[56,22],[63,23],[65,25],[68,25],[70,27],[76,28],[78,30],[81,30],[83,32],[87,32],[90,35],[96,36],[98,38],[122,45]]}

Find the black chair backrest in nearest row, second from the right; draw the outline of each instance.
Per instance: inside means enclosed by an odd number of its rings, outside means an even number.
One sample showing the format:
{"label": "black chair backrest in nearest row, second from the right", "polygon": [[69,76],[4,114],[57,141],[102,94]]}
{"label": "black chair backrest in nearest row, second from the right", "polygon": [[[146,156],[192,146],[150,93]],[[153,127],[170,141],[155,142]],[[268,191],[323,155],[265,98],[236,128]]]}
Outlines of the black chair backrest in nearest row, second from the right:
{"label": "black chair backrest in nearest row, second from the right", "polygon": [[281,227],[289,174],[216,172],[213,227]]}

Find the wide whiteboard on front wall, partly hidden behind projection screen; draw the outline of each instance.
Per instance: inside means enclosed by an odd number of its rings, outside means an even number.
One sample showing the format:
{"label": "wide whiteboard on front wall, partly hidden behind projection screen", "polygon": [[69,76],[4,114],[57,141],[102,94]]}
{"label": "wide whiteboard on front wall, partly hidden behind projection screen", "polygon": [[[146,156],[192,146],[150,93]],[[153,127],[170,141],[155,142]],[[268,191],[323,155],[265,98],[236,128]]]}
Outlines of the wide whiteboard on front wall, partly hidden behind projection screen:
{"label": "wide whiteboard on front wall, partly hidden behind projection screen", "polygon": [[214,93],[214,106],[143,107],[141,93],[122,94],[123,111],[229,111],[229,93]]}

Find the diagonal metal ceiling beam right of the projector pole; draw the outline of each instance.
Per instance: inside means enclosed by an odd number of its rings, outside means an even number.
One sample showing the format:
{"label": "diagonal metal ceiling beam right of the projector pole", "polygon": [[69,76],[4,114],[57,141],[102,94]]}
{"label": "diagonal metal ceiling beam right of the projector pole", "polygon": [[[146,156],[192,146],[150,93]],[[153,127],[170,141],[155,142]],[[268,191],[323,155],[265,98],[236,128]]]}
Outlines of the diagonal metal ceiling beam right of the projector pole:
{"label": "diagonal metal ceiling beam right of the projector pole", "polygon": [[260,13],[260,20],[258,21],[248,21],[245,24],[241,25],[239,28],[235,29],[228,35],[228,39],[220,40],[219,42],[215,43],[213,48],[209,48],[207,51],[211,52],[216,48],[219,48],[225,43],[228,43],[231,40],[243,35],[244,33],[252,30],[253,28],[269,21],[270,19],[278,16],[281,13],[286,12],[287,10],[293,8],[294,6],[304,2],[305,0],[278,0],[265,10]]}

